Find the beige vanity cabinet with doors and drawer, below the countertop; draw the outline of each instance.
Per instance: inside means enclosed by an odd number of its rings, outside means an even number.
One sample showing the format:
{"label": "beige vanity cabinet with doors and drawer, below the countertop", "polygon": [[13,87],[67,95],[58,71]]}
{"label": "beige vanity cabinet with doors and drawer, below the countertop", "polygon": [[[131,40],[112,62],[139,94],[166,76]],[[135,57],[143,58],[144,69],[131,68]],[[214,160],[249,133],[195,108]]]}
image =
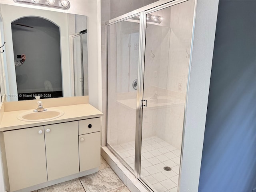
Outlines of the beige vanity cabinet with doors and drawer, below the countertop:
{"label": "beige vanity cabinet with doors and drawer, below the countertop", "polygon": [[11,191],[78,178],[100,166],[100,118],[4,131],[4,145]]}

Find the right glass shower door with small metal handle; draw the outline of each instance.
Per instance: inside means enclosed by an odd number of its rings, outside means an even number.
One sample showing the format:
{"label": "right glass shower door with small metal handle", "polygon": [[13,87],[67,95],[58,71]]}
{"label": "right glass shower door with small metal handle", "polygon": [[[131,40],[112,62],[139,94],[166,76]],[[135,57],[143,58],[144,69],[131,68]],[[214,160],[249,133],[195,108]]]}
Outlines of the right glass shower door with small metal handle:
{"label": "right glass shower door with small metal handle", "polygon": [[140,178],[154,192],[178,190],[193,17],[194,1],[147,14]]}

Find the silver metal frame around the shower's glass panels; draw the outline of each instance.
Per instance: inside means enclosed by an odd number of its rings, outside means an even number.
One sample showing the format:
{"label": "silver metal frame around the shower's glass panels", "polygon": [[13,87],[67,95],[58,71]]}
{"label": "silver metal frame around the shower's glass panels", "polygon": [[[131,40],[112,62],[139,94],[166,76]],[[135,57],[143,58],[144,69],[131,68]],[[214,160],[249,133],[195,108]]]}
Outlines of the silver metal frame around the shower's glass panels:
{"label": "silver metal frame around the shower's glass panels", "polygon": [[[134,160],[134,170],[117,154],[117,152],[108,145],[108,107],[106,107],[106,146],[110,151],[122,162],[122,164],[138,179],[149,191],[154,192],[143,180],[140,178],[140,168],[141,168],[141,144],[142,144],[142,100],[143,100],[143,84],[144,84],[144,57],[145,57],[145,37],[146,37],[146,14],[186,2],[188,0],[160,0],[124,14],[122,16],[116,17],[112,20],[105,22],[105,45],[107,46],[107,26],[116,24],[128,20],[135,16],[140,16],[140,31],[139,31],[139,61],[138,61],[138,89],[137,89],[137,107],[136,107],[136,139],[135,139],[135,160]],[[193,25],[192,25],[192,37],[190,44],[190,58],[188,66],[188,80],[186,87],[186,99],[185,99],[185,108],[184,108],[184,120],[183,120],[183,130],[182,130],[182,146],[181,146],[181,156],[180,156],[180,170],[182,167],[182,156],[183,156],[183,146],[184,146],[184,132],[185,132],[185,122],[186,122],[186,108],[188,101],[188,85],[190,80],[190,69],[191,69],[191,56],[192,56],[192,44],[194,37],[194,26],[195,26],[195,15],[196,15],[196,4],[197,0],[194,0],[194,15],[193,15]],[[108,49],[106,47],[106,106],[108,106]],[[180,171],[179,171],[180,172]],[[178,178],[178,191],[180,187],[180,174]]]}

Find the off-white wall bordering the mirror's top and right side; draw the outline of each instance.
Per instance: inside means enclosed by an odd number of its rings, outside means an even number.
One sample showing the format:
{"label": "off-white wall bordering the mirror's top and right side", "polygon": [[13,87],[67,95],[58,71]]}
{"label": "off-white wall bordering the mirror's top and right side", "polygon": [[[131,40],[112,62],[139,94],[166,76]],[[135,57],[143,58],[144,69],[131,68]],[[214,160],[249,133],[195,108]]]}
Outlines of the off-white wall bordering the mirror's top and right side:
{"label": "off-white wall bordering the mirror's top and right side", "polygon": [[[88,79],[89,79],[89,102],[92,106],[98,108],[99,98],[101,99],[101,82],[99,83],[99,79],[101,78],[98,74],[101,74],[101,58],[100,55],[100,12],[98,6],[100,6],[99,2],[96,0],[70,0],[70,9],[69,10],[58,10],[54,8],[45,8],[40,6],[30,6],[23,4],[15,4],[12,0],[1,0],[1,4],[10,4],[17,5],[22,7],[30,7],[36,8],[38,10],[52,10],[56,12],[65,12],[71,14],[80,14],[86,15],[88,17],[87,20],[87,35],[88,35]],[[99,33],[99,34],[98,34]],[[101,106],[100,106],[101,108]],[[2,159],[0,164],[2,164]],[[3,175],[0,174],[0,190],[4,191],[3,183]]]}

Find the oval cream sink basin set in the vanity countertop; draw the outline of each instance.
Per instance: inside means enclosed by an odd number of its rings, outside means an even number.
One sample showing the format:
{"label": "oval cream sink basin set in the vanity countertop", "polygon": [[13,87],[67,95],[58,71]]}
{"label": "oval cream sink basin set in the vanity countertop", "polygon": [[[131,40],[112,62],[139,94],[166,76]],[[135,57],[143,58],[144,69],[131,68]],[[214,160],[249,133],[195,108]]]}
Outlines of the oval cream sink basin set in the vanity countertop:
{"label": "oval cream sink basin set in the vanity countertop", "polygon": [[48,109],[47,111],[34,112],[33,110],[24,112],[17,116],[18,120],[22,121],[47,121],[62,116],[64,112],[58,109]]}

